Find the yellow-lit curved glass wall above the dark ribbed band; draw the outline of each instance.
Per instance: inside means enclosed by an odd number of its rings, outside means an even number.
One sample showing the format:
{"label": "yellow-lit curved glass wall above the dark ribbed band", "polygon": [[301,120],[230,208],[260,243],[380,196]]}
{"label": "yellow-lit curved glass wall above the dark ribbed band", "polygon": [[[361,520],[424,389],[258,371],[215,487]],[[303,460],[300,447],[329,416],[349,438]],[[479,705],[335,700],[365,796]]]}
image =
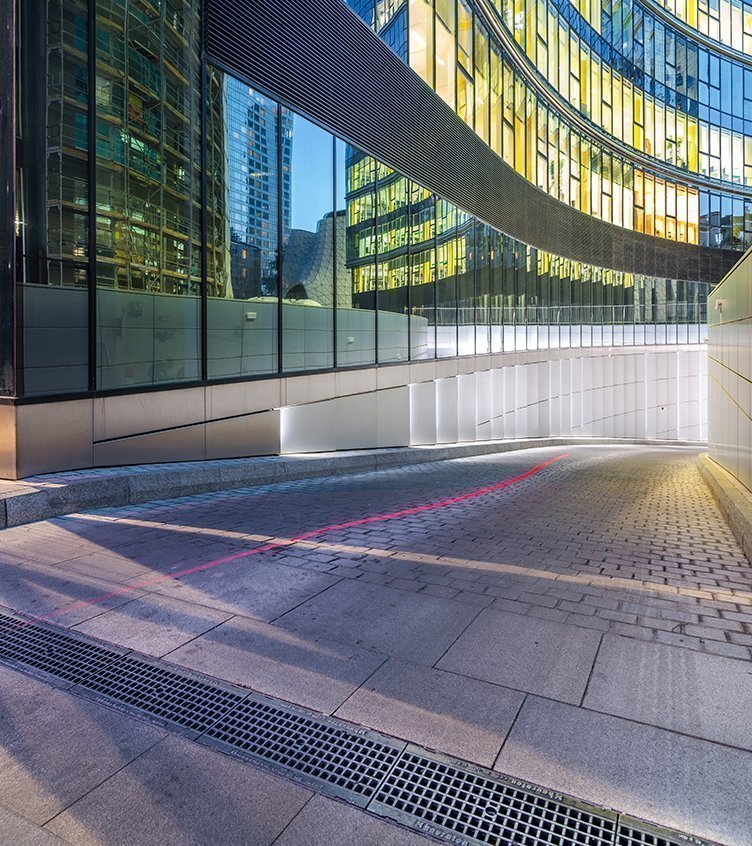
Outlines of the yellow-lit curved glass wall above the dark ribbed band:
{"label": "yellow-lit curved glass wall above the dark ribbed band", "polygon": [[[752,244],[752,66],[714,55],[637,3],[577,11],[569,0],[494,0],[489,14],[524,54],[523,74],[466,0],[391,6],[395,15],[404,8],[406,61],[538,188],[654,237]],[[531,74],[553,99],[534,91]],[[592,132],[567,118],[572,110]],[[617,152],[604,135],[666,170]]]}

